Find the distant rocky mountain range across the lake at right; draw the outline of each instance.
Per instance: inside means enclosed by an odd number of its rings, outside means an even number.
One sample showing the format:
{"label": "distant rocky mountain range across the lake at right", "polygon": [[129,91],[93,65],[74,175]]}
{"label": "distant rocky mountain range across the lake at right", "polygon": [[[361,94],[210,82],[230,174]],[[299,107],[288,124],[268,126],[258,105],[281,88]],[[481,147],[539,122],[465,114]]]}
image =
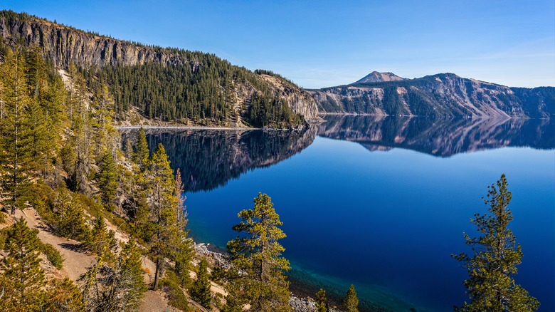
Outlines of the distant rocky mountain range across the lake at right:
{"label": "distant rocky mountain range across the lake at right", "polygon": [[[421,115],[467,118],[553,118],[555,88],[509,88],[440,73],[384,80],[382,73],[350,85],[308,90],[322,113]],[[393,75],[393,74],[391,74]],[[394,78],[398,76],[388,76]]]}

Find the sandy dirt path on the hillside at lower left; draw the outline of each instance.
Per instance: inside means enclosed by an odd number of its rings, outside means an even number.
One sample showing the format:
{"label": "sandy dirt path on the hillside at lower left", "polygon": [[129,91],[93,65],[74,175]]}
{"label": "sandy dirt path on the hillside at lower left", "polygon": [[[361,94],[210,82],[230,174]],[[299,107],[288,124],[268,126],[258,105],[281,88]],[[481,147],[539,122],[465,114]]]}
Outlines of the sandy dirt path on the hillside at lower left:
{"label": "sandy dirt path on the hillside at lower left", "polygon": [[73,281],[87,271],[89,266],[95,263],[95,256],[81,251],[79,248],[80,243],[73,239],[65,239],[51,233],[46,224],[41,222],[41,217],[38,216],[35,209],[28,208],[16,211],[16,217],[23,217],[26,220],[27,226],[31,229],[38,229],[38,238],[43,243],[51,244],[60,251],[63,256],[63,268],[61,273]]}

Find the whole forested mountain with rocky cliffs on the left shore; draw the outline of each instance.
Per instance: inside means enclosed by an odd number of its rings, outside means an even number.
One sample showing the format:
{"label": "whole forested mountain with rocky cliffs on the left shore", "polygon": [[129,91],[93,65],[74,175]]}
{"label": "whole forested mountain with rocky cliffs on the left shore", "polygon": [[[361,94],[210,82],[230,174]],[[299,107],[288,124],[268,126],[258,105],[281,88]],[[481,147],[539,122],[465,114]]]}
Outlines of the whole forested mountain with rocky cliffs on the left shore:
{"label": "whole forested mountain with rocky cliffs on the left shore", "polygon": [[271,71],[248,71],[209,53],[117,40],[28,14],[0,11],[4,46],[36,50],[93,95],[107,86],[120,123],[143,118],[201,125],[300,128],[318,119],[302,88]]}

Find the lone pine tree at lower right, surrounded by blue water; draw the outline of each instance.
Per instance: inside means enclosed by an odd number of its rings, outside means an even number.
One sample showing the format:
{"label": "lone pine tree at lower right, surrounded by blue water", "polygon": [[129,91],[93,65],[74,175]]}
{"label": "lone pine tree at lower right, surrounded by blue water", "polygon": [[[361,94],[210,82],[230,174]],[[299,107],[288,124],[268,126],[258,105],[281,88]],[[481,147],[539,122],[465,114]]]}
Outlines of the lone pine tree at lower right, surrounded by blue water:
{"label": "lone pine tree at lower right, surrounded by blue water", "polygon": [[470,302],[457,311],[536,311],[539,302],[517,285],[513,277],[522,261],[522,249],[516,237],[507,228],[512,221],[509,202],[512,194],[507,189],[507,178],[487,187],[484,202],[489,214],[475,214],[470,219],[483,236],[473,238],[465,234],[465,243],[474,254],[451,255],[461,261],[470,276],[464,281]]}

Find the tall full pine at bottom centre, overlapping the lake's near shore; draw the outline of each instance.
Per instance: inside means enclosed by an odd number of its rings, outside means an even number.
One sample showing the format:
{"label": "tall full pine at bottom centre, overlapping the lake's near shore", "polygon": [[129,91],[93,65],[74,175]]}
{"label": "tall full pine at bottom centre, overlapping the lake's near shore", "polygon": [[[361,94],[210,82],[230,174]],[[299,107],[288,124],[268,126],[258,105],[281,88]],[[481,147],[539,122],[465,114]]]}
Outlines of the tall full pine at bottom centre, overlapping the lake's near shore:
{"label": "tall full pine at bottom centre, overlapping the lake's near shore", "polygon": [[267,194],[258,193],[254,203],[253,209],[239,212],[243,221],[233,226],[243,236],[228,242],[233,265],[244,272],[231,280],[230,292],[237,299],[245,298],[251,311],[290,311],[289,282],[284,276],[290,265],[277,242],[285,238],[279,228],[282,222]]}

